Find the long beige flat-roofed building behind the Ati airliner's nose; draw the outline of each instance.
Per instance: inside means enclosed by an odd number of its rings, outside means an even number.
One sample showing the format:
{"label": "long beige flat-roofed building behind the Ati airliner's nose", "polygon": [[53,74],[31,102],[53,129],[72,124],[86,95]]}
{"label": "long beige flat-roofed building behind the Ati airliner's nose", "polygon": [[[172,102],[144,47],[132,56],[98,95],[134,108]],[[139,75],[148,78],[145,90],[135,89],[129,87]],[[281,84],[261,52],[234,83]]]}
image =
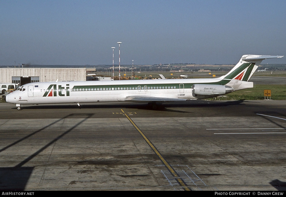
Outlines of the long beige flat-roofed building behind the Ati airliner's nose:
{"label": "long beige flat-roofed building behind the Ati airliner's nose", "polygon": [[0,68],[0,83],[86,81],[87,68]]}

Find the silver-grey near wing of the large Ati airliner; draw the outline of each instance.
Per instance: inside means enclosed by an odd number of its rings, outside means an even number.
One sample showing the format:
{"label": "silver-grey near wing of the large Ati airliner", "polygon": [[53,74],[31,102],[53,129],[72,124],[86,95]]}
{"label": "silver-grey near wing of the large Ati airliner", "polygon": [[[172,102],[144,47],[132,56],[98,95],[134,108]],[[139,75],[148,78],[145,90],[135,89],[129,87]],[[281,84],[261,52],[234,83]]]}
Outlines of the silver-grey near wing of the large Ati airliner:
{"label": "silver-grey near wing of the large Ati airliner", "polygon": [[124,101],[132,101],[132,102],[166,102],[166,101],[186,101],[186,100],[195,100],[195,99],[181,99],[181,98],[166,98],[166,97],[134,95],[134,96],[126,97],[126,99]]}

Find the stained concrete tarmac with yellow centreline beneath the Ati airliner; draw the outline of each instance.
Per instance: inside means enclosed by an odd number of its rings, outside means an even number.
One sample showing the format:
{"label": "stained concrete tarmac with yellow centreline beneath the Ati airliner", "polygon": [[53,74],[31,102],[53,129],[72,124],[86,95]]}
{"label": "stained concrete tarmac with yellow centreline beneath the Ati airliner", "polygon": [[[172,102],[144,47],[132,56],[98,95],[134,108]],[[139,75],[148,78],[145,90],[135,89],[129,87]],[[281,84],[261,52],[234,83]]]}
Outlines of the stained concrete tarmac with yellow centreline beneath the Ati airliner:
{"label": "stained concrete tarmac with yellow centreline beneath the Ati airliner", "polygon": [[0,103],[0,190],[285,190],[285,101]]}

